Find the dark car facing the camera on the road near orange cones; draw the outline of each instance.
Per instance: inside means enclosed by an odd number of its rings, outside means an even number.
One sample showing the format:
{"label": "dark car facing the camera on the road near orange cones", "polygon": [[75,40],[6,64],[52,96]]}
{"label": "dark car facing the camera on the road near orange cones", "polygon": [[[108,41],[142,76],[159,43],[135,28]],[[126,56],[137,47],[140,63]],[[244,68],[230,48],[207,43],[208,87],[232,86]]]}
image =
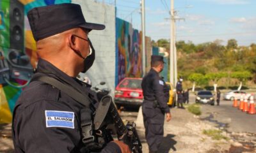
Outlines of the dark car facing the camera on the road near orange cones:
{"label": "dark car facing the camera on the road near orange cones", "polygon": [[198,91],[196,94],[196,103],[214,105],[214,94],[211,91]]}

